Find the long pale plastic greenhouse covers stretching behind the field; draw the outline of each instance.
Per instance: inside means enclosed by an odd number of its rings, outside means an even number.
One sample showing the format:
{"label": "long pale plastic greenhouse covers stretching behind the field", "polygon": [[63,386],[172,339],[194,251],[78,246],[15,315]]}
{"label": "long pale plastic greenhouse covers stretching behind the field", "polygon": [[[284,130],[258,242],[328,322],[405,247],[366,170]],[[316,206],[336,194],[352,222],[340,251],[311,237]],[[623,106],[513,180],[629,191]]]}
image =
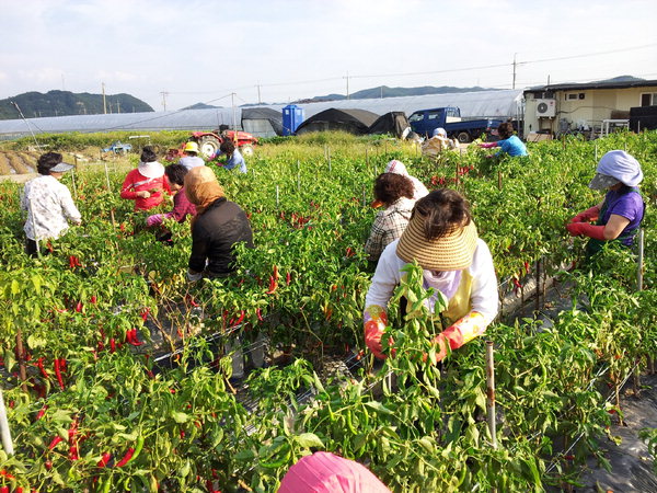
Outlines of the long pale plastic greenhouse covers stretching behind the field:
{"label": "long pale plastic greenhouse covers stretching behind the field", "polygon": [[[303,108],[304,117],[328,108],[359,108],[377,115],[392,111],[401,111],[410,116],[417,110],[442,106],[458,106],[464,118],[497,117],[519,118],[522,115],[522,91],[479,91],[449,94],[426,94],[418,96],[383,98],[369,100],[342,100],[321,103],[297,104]],[[285,105],[262,105],[280,112]],[[260,106],[251,106],[260,107]],[[240,107],[220,107],[211,110],[180,110],[172,112],[120,113],[100,115],[70,115],[0,121],[0,135],[13,138],[41,133],[95,133],[113,130],[197,130],[215,129],[220,125],[241,127],[242,111]],[[257,137],[257,136],[256,136]]]}

